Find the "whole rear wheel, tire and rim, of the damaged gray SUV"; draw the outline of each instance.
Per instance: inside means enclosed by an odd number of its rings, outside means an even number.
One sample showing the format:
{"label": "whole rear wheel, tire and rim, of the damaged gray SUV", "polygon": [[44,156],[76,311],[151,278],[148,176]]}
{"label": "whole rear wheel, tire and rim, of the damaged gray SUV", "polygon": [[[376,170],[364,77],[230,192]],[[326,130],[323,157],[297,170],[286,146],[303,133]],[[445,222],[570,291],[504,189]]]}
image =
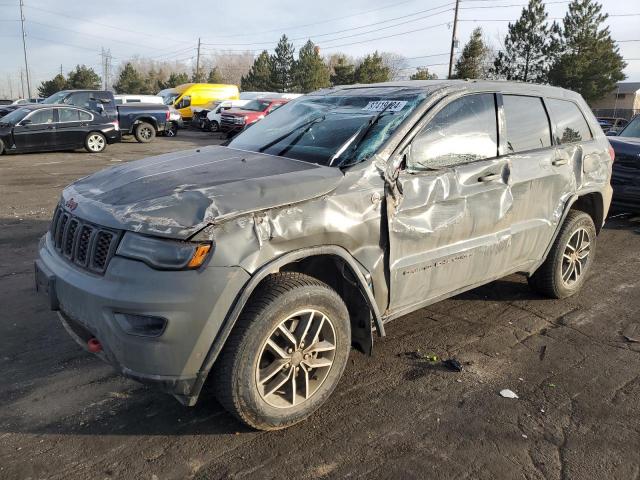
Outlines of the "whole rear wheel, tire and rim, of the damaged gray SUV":
{"label": "whole rear wheel, tire and rim, of the damaged gray SUV", "polygon": [[595,259],[596,227],[591,217],[571,210],[545,262],[529,285],[551,298],[569,297],[582,287]]}

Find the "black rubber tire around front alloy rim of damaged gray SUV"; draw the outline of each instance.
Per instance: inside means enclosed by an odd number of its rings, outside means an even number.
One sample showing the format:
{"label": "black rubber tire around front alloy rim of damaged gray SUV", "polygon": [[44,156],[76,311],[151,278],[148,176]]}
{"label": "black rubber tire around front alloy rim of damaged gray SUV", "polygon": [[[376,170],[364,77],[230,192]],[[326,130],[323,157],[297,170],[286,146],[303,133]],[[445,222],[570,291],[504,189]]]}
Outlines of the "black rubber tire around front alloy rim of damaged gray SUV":
{"label": "black rubber tire around front alloy rim of damaged gray SUV", "polygon": [[[277,375],[283,375],[284,378],[285,373],[289,372],[287,378],[293,376],[299,379],[299,375],[302,374],[307,378],[307,393],[310,382],[318,381],[317,375],[323,376],[323,379],[319,381],[313,393],[306,395],[308,398],[300,397],[303,399],[299,400],[300,403],[297,405],[294,401],[293,405],[288,407],[273,406],[268,403],[258,387],[258,376],[261,374],[259,362],[264,360],[265,352],[268,351],[267,340],[273,339],[274,335],[280,335],[278,326],[283,320],[295,318],[297,312],[306,309],[321,312],[325,316],[322,321],[331,319],[331,332],[335,334],[332,363],[327,367],[328,370],[324,371],[328,373],[321,374],[317,373],[319,370],[307,373],[312,370],[307,371],[306,364],[295,363],[295,360],[283,365]],[[302,321],[299,325],[302,325]],[[296,334],[297,331],[296,327],[293,333]],[[281,337],[286,343],[286,335]],[[304,340],[309,337],[303,334],[301,338]],[[317,345],[313,343],[316,341],[319,341],[317,336],[308,343]],[[283,272],[270,275],[253,293],[215,364],[213,386],[216,396],[225,409],[255,429],[277,430],[289,427],[307,418],[329,398],[342,376],[350,348],[349,314],[344,302],[331,287],[301,273]],[[292,360],[296,354],[297,347],[291,356]],[[308,355],[305,355],[304,358],[307,357]],[[299,358],[298,355],[298,360]],[[315,356],[311,360],[314,359]],[[299,368],[302,370],[299,371]],[[276,376],[273,378],[276,383],[279,382]],[[290,381],[287,381],[283,389],[289,384]],[[302,383],[294,382],[293,386],[292,390],[297,386],[300,389],[305,388]],[[276,391],[276,395],[279,391],[280,389]]]}

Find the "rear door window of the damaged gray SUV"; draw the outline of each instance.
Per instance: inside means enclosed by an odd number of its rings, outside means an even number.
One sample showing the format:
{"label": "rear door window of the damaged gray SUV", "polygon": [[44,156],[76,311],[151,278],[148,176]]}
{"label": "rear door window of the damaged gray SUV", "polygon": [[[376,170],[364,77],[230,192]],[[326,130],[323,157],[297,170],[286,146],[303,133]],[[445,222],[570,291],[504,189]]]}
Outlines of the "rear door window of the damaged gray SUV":
{"label": "rear door window of the damaged gray SUV", "polygon": [[549,119],[539,97],[504,95],[507,152],[526,152],[551,146]]}

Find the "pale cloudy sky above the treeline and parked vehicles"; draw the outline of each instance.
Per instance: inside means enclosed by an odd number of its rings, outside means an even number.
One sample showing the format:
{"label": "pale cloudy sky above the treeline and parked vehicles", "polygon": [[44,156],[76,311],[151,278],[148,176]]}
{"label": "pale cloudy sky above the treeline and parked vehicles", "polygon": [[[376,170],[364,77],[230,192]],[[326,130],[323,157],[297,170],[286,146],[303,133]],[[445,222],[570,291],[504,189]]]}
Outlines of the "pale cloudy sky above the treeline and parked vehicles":
{"label": "pale cloudy sky above the treeline and parked vehicles", "polygon": [[[446,76],[453,21],[452,0],[300,0],[213,2],[131,2],[111,0],[24,0],[27,53],[32,90],[42,80],[76,64],[101,73],[100,50],[109,48],[117,65],[133,55],[193,61],[198,37],[212,49],[272,49],[282,33],[299,46],[307,38],[323,54],[360,56],[374,50],[410,58],[408,65],[429,65]],[[525,0],[462,0],[458,38],[462,46],[473,28],[499,48],[507,21],[515,20]],[[604,0],[612,15],[613,38],[640,40],[640,4]],[[568,2],[550,0],[551,18],[564,16]],[[0,96],[14,97],[24,57],[20,38],[19,0],[0,0]],[[181,9],[181,6],[186,8]],[[635,14],[635,15],[629,15]],[[626,15],[626,16],[625,16]],[[506,20],[506,21],[502,21]],[[380,38],[387,37],[387,38]],[[629,59],[628,81],[640,81],[640,41],[620,43]],[[420,58],[415,58],[420,57]],[[635,59],[635,60],[632,60]]]}

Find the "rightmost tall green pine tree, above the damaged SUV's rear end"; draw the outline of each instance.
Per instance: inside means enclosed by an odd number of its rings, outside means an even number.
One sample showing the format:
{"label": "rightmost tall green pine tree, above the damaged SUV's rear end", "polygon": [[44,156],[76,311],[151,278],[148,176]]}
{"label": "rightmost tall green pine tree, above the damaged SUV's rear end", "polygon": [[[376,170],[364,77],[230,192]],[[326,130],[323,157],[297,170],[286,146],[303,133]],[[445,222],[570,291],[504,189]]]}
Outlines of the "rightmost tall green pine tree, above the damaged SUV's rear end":
{"label": "rightmost tall green pine tree, above the damaged SUV's rear end", "polygon": [[562,21],[558,56],[549,70],[552,85],[574,90],[587,101],[602,98],[624,80],[626,63],[604,25],[608,15],[593,0],[573,0]]}

